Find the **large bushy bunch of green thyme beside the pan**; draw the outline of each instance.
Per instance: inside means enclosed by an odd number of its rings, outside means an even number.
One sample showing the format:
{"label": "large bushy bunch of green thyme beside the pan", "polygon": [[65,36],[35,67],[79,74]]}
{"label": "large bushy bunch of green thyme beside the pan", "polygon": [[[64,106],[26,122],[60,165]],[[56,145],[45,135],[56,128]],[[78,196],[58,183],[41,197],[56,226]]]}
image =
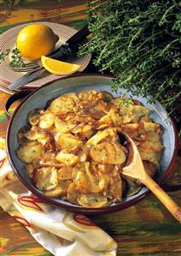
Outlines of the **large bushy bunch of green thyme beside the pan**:
{"label": "large bushy bunch of green thyme beside the pan", "polygon": [[125,88],[150,103],[158,99],[177,122],[181,95],[181,3],[176,0],[89,2],[91,39],[79,55],[95,53],[101,72],[115,75],[114,91]]}

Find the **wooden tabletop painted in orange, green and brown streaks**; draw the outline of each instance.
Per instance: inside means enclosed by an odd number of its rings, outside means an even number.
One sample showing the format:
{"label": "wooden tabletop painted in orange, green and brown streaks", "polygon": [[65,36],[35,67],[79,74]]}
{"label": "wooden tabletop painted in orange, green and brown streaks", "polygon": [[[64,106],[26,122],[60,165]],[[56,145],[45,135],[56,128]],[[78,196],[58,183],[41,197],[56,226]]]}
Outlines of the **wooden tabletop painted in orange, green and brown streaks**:
{"label": "wooden tabletop painted in orange, green and brown streaks", "polygon": [[[86,1],[1,1],[0,32],[27,21],[54,21],[79,29],[86,20]],[[14,5],[15,3],[15,5]],[[86,71],[92,70],[88,67]],[[8,121],[4,104],[9,94],[0,92],[0,136],[5,137]],[[15,106],[11,110],[14,110]],[[172,176],[166,183],[181,180],[181,157]],[[169,193],[181,205],[181,191]],[[149,194],[137,205],[124,211],[91,217],[91,220],[108,232],[118,243],[121,255],[181,255],[181,225],[164,206]],[[34,241],[22,224],[0,209],[0,255],[48,256],[51,253]],[[85,255],[86,256],[86,255]]]}

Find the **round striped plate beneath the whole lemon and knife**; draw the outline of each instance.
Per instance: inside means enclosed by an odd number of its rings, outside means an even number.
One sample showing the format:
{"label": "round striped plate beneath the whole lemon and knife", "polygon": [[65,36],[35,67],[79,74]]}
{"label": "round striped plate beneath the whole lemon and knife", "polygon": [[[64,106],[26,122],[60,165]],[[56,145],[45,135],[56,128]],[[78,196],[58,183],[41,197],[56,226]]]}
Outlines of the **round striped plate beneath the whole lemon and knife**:
{"label": "round striped plate beneath the whole lemon and knife", "polygon": [[[33,22],[33,23],[26,23],[17,27],[10,28],[8,31],[5,33],[2,33],[0,35],[0,49],[2,52],[5,52],[8,49],[12,49],[15,47],[15,41],[17,34],[20,32],[20,29],[23,27],[26,27],[27,25],[30,24],[44,24],[49,26],[55,34],[59,36],[59,42],[56,44],[57,46],[60,46],[61,43],[64,43],[69,39],[71,36],[73,36],[74,33],[77,32],[76,29],[72,27],[67,27],[65,25],[57,24],[57,23],[52,23],[52,22]],[[81,65],[81,68],[79,69],[79,73],[81,73],[87,65],[91,61],[91,54],[86,55],[84,57],[76,57],[74,59],[67,59],[67,62],[72,62]],[[0,65],[0,80],[3,82],[4,85],[9,86],[13,81],[17,80],[20,78],[25,73],[22,72],[15,72],[11,68],[9,68],[9,56],[5,57],[4,60],[1,62]],[[52,80],[58,79],[60,76],[56,76],[55,74],[49,74],[47,76],[44,76],[42,78],[39,78],[37,80],[34,80],[30,83],[28,83],[25,87],[39,87],[44,85],[47,82],[50,82]]]}

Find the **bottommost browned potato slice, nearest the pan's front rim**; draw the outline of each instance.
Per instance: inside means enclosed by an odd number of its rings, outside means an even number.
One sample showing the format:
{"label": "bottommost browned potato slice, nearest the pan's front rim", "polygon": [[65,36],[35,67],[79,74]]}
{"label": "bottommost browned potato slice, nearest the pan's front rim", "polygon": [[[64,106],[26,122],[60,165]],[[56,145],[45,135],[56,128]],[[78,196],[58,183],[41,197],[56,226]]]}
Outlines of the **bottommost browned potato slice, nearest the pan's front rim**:
{"label": "bottommost browned potato slice, nearest the pan's front rim", "polygon": [[84,207],[99,208],[108,205],[108,199],[102,193],[80,193],[79,205]]}

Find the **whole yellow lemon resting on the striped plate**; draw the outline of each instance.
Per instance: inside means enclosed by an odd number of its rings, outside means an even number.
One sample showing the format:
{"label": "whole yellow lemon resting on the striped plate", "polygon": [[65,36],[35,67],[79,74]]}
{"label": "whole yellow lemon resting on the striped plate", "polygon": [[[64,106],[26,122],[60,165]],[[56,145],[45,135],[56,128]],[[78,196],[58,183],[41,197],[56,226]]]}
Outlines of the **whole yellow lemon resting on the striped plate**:
{"label": "whole yellow lemon resting on the striped plate", "polygon": [[16,39],[16,47],[20,50],[22,57],[34,61],[54,51],[57,41],[58,36],[50,27],[33,24],[20,30]]}

